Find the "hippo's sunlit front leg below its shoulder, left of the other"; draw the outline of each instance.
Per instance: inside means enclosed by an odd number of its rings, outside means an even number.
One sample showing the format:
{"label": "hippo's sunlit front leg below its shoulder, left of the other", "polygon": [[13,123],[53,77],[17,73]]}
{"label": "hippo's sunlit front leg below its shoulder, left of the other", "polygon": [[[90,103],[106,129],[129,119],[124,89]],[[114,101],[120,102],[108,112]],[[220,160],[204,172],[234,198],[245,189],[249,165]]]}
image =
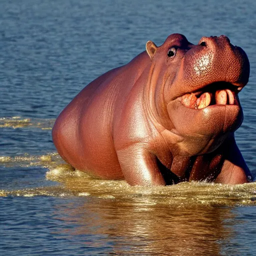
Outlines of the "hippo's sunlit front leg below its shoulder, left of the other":
{"label": "hippo's sunlit front leg below its shoulder, left of the other", "polygon": [[117,151],[125,180],[130,185],[165,185],[157,166],[157,157],[143,145],[133,144]]}

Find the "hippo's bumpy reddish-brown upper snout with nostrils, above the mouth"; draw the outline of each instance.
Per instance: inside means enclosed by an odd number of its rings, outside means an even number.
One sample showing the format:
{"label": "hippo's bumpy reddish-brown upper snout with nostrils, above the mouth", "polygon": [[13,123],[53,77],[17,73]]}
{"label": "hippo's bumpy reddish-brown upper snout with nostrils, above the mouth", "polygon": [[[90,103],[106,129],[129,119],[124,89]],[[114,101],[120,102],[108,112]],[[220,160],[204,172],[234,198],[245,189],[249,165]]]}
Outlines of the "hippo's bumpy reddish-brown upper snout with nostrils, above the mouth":
{"label": "hippo's bumpy reddish-brown upper snout with nostrils, above the mouth", "polygon": [[[199,46],[199,47],[198,47]],[[201,37],[184,58],[183,81],[198,86],[217,81],[243,87],[249,78],[246,53],[225,35]]]}

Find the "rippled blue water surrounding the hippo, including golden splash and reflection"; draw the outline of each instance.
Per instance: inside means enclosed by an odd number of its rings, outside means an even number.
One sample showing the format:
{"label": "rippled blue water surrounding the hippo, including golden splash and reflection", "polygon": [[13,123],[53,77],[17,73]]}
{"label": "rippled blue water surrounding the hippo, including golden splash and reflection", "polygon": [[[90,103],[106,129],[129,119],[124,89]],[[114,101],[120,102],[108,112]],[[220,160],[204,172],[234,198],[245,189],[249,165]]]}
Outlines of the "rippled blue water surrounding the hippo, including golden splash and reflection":
{"label": "rippled blue water surrounding the hippo, including golden splash and reflection", "polygon": [[256,175],[256,3],[1,0],[0,255],[255,255],[256,184],[129,187],[73,171],[54,119],[91,80],[173,32],[227,35],[251,65],[236,141]]}

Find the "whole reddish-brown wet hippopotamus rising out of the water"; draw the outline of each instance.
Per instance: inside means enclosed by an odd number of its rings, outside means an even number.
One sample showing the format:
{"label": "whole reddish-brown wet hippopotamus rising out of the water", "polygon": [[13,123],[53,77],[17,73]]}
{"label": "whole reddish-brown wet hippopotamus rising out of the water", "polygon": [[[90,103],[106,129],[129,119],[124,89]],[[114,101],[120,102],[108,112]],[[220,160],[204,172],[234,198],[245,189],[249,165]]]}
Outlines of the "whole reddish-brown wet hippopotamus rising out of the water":
{"label": "whole reddish-brown wet hippopotamus rising out of the water", "polygon": [[224,35],[194,45],[171,34],[85,86],[52,138],[74,168],[130,185],[251,180],[235,143],[249,77],[246,53]]}

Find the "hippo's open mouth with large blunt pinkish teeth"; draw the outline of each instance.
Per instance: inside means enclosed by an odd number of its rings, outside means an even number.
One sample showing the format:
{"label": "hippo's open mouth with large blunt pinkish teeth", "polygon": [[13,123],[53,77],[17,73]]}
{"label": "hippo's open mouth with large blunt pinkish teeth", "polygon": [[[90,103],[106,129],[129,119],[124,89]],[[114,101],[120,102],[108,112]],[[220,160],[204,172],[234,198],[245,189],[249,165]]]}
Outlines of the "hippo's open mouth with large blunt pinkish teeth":
{"label": "hippo's open mouth with large blunt pinkish teeth", "polygon": [[210,105],[238,105],[237,93],[240,88],[229,82],[214,82],[200,90],[181,96],[181,103],[189,108],[202,109]]}

